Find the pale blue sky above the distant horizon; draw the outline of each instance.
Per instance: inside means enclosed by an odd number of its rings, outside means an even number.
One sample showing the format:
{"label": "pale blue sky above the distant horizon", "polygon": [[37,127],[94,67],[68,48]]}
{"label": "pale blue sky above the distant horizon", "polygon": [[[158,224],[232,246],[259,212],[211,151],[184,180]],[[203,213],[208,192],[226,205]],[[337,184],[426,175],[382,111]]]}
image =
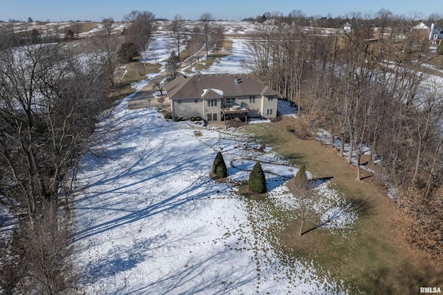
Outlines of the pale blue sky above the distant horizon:
{"label": "pale blue sky above the distant horizon", "polygon": [[[149,10],[157,18],[198,19],[211,12],[215,19],[240,20],[264,12],[301,10],[307,16],[345,16],[348,12],[390,10],[395,15],[424,19],[433,12],[443,13],[442,0],[0,0],[0,21],[31,17],[35,21],[100,21],[113,17],[120,21],[131,10]],[[439,10],[440,8],[440,10]]]}

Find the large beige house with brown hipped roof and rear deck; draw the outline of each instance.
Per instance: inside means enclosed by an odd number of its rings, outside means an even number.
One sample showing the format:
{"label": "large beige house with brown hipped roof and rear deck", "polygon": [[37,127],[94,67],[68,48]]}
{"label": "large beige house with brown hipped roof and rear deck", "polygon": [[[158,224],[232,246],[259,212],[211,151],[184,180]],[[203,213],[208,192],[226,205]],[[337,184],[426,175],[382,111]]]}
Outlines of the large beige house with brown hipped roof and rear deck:
{"label": "large beige house with brown hipped roof and rear deck", "polygon": [[277,115],[279,93],[248,75],[181,75],[165,84],[172,117],[221,121]]}

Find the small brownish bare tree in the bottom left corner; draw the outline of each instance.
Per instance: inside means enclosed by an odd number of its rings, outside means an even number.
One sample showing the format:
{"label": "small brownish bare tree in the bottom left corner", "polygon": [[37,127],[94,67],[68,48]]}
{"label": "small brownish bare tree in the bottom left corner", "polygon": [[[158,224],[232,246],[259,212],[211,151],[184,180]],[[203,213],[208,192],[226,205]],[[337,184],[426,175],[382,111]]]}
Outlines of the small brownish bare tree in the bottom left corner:
{"label": "small brownish bare tree in the bottom left corner", "polygon": [[60,214],[46,203],[35,220],[38,226],[24,225],[12,254],[26,271],[12,292],[55,295],[75,290],[79,272],[73,263],[69,218]]}

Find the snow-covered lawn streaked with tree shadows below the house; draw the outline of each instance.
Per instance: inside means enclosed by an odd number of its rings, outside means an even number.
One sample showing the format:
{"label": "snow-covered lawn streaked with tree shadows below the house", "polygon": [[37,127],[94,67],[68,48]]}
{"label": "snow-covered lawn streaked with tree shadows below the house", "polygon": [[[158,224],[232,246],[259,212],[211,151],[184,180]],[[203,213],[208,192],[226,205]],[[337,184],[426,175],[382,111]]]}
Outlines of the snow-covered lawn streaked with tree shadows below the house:
{"label": "snow-covered lawn streaked with tree shadows below the house", "polygon": [[[297,202],[285,182],[296,167],[269,146],[259,151],[248,135],[167,122],[126,104],[102,121],[96,155],[84,157],[78,175],[76,256],[88,294],[338,292],[309,261],[285,259],[272,246],[266,227],[284,225],[233,185],[260,160],[269,202],[290,209]],[[208,177],[217,151],[229,167],[226,183]],[[326,184],[317,189],[322,210],[336,212],[339,198],[323,193]],[[352,227],[355,216],[346,213],[332,229]]]}

